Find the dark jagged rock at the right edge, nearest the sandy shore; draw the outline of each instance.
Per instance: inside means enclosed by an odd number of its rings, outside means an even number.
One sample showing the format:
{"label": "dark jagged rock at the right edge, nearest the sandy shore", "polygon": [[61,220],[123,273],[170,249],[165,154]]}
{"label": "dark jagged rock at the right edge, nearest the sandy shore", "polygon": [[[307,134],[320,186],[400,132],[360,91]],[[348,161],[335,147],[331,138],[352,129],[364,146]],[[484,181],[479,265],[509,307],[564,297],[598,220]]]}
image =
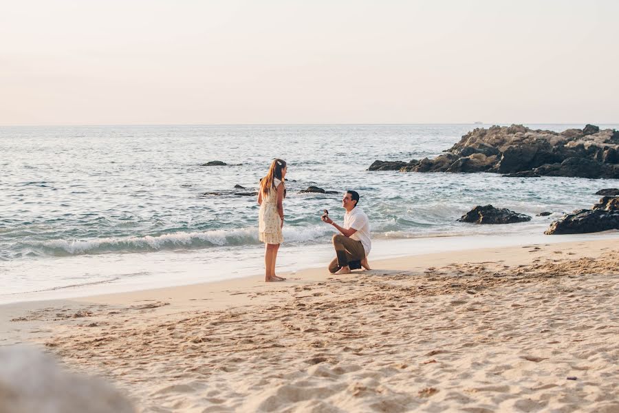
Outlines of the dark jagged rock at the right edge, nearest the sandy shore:
{"label": "dark jagged rock at the right edge, nearest the sandy shore", "polygon": [[619,197],[605,196],[592,209],[579,209],[563,215],[544,233],[581,234],[619,229]]}

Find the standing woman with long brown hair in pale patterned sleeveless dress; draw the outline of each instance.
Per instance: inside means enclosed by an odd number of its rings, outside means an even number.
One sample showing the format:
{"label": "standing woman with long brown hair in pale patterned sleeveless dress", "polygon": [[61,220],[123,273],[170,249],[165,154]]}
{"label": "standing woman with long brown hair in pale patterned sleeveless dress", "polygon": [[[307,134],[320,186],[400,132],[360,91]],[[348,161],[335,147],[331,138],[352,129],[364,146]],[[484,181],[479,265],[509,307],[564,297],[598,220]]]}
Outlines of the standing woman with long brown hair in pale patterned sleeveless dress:
{"label": "standing woman with long brown hair in pale patterned sleeveless dress", "polygon": [[284,178],[287,166],[285,160],[275,159],[267,175],[260,181],[258,191],[259,239],[264,242],[265,282],[283,281],[285,278],[275,275],[275,260],[279,244],[283,241],[283,199],[286,196]]}

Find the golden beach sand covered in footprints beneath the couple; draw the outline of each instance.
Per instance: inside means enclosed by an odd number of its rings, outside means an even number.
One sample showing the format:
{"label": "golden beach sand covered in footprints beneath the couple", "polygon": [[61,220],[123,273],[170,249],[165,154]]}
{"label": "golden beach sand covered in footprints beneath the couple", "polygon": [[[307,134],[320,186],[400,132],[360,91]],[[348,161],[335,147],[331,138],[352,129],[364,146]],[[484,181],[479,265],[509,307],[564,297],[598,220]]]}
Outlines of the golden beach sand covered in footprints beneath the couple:
{"label": "golden beach sand covered in footprints beneath the couple", "polygon": [[370,264],[3,306],[0,344],[141,412],[619,412],[619,238]]}

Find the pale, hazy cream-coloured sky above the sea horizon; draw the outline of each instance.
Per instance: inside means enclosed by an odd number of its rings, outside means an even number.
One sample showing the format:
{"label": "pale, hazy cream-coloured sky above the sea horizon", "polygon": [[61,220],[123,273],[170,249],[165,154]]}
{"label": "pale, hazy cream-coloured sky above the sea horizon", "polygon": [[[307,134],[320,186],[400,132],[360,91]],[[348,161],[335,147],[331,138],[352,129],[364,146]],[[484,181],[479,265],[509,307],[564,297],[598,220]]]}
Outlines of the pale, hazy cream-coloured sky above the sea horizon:
{"label": "pale, hazy cream-coloured sky above the sea horizon", "polygon": [[3,0],[0,125],[619,123],[618,0]]}

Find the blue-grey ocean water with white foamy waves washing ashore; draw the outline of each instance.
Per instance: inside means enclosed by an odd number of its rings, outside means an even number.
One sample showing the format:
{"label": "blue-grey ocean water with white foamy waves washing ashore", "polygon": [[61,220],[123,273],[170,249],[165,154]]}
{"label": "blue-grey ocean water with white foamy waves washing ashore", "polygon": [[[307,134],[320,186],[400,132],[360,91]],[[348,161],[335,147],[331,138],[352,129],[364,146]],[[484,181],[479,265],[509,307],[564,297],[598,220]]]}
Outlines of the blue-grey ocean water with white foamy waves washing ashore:
{"label": "blue-grey ocean water with white foamy waves washing ashore", "polygon": [[[276,157],[289,165],[279,263],[292,271],[327,264],[333,230],[321,211],[341,221],[346,189],[361,195],[379,257],[412,245],[426,251],[442,237],[538,236],[563,212],[591,207],[598,189],[619,187],[618,180],[367,171],[377,159],[432,158],[480,126],[0,127],[0,302],[260,273],[259,207],[254,196],[235,193],[256,191]],[[210,160],[229,166],[201,166]],[[299,193],[310,185],[339,193]],[[553,215],[505,226],[456,222],[478,204]]]}

